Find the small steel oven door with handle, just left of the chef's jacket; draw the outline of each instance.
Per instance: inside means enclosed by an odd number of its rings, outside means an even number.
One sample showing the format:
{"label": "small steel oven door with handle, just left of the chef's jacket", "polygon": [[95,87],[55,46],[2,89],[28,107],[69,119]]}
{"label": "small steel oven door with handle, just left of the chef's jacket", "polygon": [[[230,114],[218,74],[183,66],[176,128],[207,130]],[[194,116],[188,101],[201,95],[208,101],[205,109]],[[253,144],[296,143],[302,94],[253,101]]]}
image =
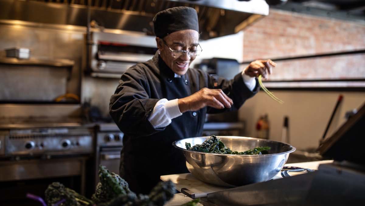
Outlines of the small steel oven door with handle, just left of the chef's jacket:
{"label": "small steel oven door with handle, just left of the chef's jacket", "polygon": [[120,151],[122,147],[100,148],[100,164],[107,167],[110,172],[119,175]]}

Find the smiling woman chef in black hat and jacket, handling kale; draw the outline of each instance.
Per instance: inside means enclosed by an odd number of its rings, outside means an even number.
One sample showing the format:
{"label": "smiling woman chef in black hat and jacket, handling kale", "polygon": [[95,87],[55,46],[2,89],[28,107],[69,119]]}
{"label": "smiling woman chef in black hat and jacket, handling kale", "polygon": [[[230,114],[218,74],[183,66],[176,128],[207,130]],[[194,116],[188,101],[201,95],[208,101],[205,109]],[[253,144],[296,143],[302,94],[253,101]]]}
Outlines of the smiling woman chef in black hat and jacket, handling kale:
{"label": "smiling woman chef in black hat and jacket, handling kale", "polygon": [[257,60],[231,80],[189,68],[202,52],[195,9],[166,9],[153,23],[157,52],[120,77],[109,108],[124,133],[120,176],[142,194],[161,175],[188,172],[173,141],[201,136],[207,113],[239,109],[258,92],[256,77],[267,78],[275,66],[271,60]]}

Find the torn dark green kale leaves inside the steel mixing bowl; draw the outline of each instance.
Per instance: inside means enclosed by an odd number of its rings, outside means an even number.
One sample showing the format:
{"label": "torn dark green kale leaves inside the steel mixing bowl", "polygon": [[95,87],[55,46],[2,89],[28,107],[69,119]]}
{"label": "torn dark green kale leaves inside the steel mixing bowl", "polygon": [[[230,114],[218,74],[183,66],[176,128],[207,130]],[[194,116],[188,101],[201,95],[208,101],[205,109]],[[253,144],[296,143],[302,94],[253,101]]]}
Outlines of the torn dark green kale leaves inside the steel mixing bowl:
{"label": "torn dark green kale leaves inside the steel mixing bowl", "polygon": [[270,147],[255,147],[244,152],[232,151],[230,148],[226,147],[219,137],[212,135],[207,138],[203,143],[191,146],[190,143],[185,143],[185,147],[188,150],[197,152],[209,152],[218,154],[228,154],[228,155],[261,155],[268,154]]}

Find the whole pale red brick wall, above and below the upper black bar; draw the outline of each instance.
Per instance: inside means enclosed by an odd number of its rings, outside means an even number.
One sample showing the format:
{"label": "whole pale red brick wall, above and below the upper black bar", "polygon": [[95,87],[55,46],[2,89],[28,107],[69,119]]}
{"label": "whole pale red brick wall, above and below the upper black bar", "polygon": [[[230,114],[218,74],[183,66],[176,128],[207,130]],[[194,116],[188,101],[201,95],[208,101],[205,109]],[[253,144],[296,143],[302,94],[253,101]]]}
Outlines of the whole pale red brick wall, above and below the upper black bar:
{"label": "whole pale red brick wall, above and below the upper black bar", "polygon": [[[270,9],[244,31],[243,61],[365,49],[365,23]],[[365,54],[276,62],[269,80],[365,78]]]}

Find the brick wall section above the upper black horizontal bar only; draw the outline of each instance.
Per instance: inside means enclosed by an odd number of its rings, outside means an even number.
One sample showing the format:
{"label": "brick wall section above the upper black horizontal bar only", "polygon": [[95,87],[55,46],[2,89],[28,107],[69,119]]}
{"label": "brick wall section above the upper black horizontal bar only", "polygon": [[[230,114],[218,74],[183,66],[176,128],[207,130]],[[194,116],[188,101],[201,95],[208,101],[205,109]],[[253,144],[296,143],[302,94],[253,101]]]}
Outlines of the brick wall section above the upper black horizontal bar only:
{"label": "brick wall section above the upper black horizontal bar only", "polygon": [[365,23],[270,9],[245,29],[243,59],[295,57],[365,49]]}

